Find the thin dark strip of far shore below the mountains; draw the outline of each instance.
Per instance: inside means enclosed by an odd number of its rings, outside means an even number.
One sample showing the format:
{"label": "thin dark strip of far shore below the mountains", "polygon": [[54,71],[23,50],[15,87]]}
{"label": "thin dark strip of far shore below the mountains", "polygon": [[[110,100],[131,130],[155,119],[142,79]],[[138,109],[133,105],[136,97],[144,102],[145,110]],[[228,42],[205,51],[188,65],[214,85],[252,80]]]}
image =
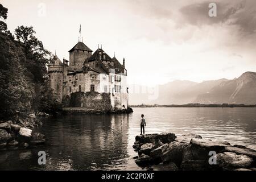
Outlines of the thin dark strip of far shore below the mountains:
{"label": "thin dark strip of far shore below the mountains", "polygon": [[130,105],[130,107],[256,107],[255,105],[245,104],[171,104],[171,105]]}

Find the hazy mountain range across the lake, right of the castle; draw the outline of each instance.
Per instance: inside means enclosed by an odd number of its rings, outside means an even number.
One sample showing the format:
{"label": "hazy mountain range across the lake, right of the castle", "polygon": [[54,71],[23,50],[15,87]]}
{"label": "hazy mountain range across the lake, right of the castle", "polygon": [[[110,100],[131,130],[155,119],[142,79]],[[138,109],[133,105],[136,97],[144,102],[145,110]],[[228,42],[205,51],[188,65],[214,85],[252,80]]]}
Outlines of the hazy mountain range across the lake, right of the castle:
{"label": "hazy mountain range across the lake, right of the castle", "polygon": [[228,80],[176,80],[154,88],[129,85],[129,104],[256,104],[256,73],[245,72]]}

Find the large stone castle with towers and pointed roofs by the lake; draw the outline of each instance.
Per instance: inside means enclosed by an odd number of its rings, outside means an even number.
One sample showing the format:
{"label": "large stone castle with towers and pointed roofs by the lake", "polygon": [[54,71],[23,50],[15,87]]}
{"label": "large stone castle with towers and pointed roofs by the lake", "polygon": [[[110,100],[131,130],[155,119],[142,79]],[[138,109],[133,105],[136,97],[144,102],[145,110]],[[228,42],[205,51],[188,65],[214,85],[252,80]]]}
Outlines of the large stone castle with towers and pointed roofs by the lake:
{"label": "large stone castle with towers and pointed roofs by the lake", "polygon": [[[64,107],[114,111],[128,105],[127,71],[123,63],[102,48],[92,54],[78,42],[63,63],[55,55],[48,65],[50,86]],[[69,64],[68,64],[69,62]]]}

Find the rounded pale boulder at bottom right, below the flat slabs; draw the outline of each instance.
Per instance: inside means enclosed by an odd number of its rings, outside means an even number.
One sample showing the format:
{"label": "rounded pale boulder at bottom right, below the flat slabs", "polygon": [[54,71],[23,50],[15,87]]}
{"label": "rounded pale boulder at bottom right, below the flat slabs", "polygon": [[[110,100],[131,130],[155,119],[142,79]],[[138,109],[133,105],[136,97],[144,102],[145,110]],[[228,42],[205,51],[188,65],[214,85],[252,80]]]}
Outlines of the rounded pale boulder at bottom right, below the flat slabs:
{"label": "rounded pale boulder at bottom right, below the flat slabs", "polygon": [[247,155],[224,152],[216,155],[217,164],[223,169],[249,168],[253,159]]}

